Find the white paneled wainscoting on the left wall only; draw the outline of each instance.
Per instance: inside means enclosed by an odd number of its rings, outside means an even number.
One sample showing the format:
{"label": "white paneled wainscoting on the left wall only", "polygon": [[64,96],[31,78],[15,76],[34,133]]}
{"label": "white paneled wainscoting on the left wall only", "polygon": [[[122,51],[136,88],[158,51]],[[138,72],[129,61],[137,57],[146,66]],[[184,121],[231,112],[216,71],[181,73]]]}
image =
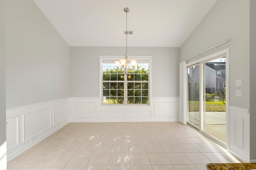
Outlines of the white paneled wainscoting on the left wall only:
{"label": "white paneled wainscoting on the left wall only", "polygon": [[7,160],[69,122],[69,98],[6,109]]}

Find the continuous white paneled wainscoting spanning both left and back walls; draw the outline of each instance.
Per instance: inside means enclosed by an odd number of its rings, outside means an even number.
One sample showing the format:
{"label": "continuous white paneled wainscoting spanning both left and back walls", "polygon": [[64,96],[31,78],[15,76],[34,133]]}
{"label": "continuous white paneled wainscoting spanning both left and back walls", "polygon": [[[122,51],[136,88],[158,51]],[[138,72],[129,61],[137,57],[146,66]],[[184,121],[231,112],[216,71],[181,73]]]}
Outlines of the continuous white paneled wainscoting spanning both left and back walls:
{"label": "continuous white paneled wainscoting spanning both left and back walls", "polygon": [[150,102],[150,106],[102,106],[100,98],[64,98],[7,109],[7,160],[69,122],[179,121],[179,98]]}

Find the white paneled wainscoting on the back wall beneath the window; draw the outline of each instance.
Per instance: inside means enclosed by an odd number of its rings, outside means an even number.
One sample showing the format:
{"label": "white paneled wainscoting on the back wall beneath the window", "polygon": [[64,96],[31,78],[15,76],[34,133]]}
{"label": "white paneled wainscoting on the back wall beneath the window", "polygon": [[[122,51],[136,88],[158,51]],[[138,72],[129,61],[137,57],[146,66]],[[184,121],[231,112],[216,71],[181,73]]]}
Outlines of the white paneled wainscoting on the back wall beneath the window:
{"label": "white paneled wainscoting on the back wall beneath the window", "polygon": [[102,106],[100,98],[70,98],[70,122],[179,121],[179,98],[152,98],[150,106]]}

